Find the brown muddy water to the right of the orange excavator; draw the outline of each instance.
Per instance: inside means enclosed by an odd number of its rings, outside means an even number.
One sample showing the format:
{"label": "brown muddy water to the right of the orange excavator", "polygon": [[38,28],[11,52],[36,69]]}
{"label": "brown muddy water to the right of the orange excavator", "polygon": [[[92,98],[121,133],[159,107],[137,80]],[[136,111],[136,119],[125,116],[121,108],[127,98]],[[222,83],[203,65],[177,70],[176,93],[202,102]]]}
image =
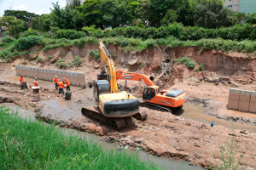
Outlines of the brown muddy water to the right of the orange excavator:
{"label": "brown muddy water to the right of the orange excavator", "polygon": [[173,114],[177,116],[183,116],[189,119],[194,119],[199,122],[205,122],[208,124],[213,122],[214,125],[220,125],[220,126],[229,127],[229,128],[233,128],[233,125],[234,125],[235,129],[247,129],[248,132],[256,133],[256,128],[254,126],[241,124],[238,122],[227,122],[224,120],[220,120],[214,116],[204,115],[203,112],[204,112],[204,107],[201,105],[184,104],[183,110],[173,111]]}

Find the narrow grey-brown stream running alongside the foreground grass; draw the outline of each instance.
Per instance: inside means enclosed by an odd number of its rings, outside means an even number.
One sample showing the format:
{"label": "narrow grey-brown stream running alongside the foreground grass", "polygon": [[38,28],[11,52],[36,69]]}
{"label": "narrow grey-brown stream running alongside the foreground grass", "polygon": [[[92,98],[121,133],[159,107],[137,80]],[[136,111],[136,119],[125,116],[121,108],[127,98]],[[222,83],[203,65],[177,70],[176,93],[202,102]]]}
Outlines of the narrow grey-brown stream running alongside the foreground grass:
{"label": "narrow grey-brown stream running alongside the foreground grass", "polygon": [[[45,103],[48,104],[48,103]],[[54,103],[53,103],[54,105]],[[69,105],[72,105],[72,102],[69,103]],[[18,111],[19,115],[21,115],[23,118],[30,118],[32,121],[37,121],[35,118],[35,114],[32,111],[27,111],[24,109],[21,109],[19,106],[15,104],[1,104],[0,107],[5,106],[8,109],[13,110],[14,112]],[[67,109],[67,107],[66,107]],[[76,112],[76,111],[74,111]],[[42,122],[44,123],[44,122]],[[46,125],[49,125],[48,123],[44,123]],[[61,131],[67,135],[78,135],[80,138],[84,138],[87,141],[92,141],[92,142],[97,142],[99,141],[100,137],[90,134],[90,133],[85,133],[85,132],[79,132],[74,129],[68,129],[68,128],[61,128]],[[117,151],[123,151],[125,148],[119,148],[118,144],[108,144],[108,143],[102,143],[100,144],[103,145],[104,148],[107,150],[117,150]],[[134,153],[132,150],[126,150],[129,154]],[[158,157],[158,156],[152,156],[149,155],[147,152],[143,150],[138,151],[138,156],[141,158],[142,161],[148,162],[148,163],[156,163],[159,166],[163,167],[164,169],[184,169],[184,170],[202,170],[202,167],[195,167],[195,166],[190,166],[189,162],[186,161],[175,161],[166,157]]]}

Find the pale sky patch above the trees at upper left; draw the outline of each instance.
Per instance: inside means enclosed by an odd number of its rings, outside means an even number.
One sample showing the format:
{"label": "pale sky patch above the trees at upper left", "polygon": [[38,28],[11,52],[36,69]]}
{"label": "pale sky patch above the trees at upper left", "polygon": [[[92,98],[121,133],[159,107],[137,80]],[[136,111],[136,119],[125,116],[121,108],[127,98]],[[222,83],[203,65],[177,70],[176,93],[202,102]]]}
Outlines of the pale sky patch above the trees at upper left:
{"label": "pale sky patch above the trees at upper left", "polygon": [[26,10],[35,14],[49,14],[52,3],[59,2],[61,8],[66,5],[66,0],[0,0],[0,16],[4,10]]}

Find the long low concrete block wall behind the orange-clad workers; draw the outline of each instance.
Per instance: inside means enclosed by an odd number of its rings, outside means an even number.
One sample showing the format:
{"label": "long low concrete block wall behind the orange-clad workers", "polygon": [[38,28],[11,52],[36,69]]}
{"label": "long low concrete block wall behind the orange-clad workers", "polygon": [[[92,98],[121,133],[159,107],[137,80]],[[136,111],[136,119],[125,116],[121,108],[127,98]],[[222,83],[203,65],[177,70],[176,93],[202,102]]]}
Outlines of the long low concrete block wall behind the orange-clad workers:
{"label": "long low concrete block wall behind the orange-clad workers", "polygon": [[15,71],[17,76],[24,75],[24,77],[38,77],[39,80],[53,81],[55,76],[63,81],[66,78],[71,85],[85,88],[85,74],[72,71],[60,71],[49,69],[38,69],[33,67],[27,67],[23,65],[15,65]]}

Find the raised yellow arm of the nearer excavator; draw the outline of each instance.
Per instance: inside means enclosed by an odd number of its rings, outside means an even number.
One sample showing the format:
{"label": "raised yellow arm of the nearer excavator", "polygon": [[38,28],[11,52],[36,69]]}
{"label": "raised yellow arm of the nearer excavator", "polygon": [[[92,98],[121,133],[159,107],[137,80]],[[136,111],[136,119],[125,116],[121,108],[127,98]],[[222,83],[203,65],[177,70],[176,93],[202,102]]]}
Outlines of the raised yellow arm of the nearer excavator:
{"label": "raised yellow arm of the nearer excavator", "polygon": [[102,42],[102,39],[99,40],[100,51],[101,51],[101,62],[102,62],[102,71],[101,74],[97,75],[98,79],[107,79],[110,84],[111,94],[119,93],[119,88],[116,82],[116,72],[111,55],[108,53],[108,49]]}

